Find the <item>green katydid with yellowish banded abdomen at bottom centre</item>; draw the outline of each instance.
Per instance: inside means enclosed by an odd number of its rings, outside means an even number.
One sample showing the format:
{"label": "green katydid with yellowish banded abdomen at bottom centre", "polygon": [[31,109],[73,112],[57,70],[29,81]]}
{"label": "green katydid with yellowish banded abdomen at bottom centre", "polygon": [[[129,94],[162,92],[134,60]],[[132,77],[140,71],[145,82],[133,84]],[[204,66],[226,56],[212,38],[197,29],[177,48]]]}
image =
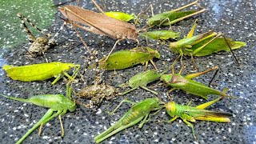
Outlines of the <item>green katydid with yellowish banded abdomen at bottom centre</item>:
{"label": "green katydid with yellowish banded abdomen at bottom centre", "polygon": [[[142,121],[142,123],[140,123],[138,127],[142,128],[151,111],[162,109],[162,106],[159,106],[159,104],[161,103],[159,103],[158,98],[146,98],[138,103],[131,102],[126,99],[124,99],[122,102],[130,102],[134,106],[130,108],[130,110],[126,112],[126,114],[124,114],[122,118],[113,126],[110,126],[109,129],[105,130],[102,134],[99,134],[97,137],[95,137],[94,141],[96,143],[104,141],[106,138],[109,138],[110,136],[118,133],[121,130],[125,130],[130,126],[134,126],[140,121]],[[122,105],[122,102],[118,105],[118,107]],[[118,107],[115,110],[117,110]],[[112,113],[114,113],[114,111]]]}

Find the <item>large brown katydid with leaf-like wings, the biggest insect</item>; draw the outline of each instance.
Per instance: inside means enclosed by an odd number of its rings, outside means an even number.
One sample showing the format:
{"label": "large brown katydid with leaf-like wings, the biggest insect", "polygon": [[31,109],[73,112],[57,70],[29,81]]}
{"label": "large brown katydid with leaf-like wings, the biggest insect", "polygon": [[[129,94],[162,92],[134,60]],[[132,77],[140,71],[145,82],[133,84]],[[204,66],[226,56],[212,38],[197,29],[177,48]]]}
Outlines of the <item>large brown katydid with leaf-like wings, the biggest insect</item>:
{"label": "large brown katydid with leaf-like wings, the biggest insect", "polygon": [[[61,13],[66,18],[68,18],[68,20],[65,21],[71,23],[75,27],[81,28],[82,30],[90,31],[94,34],[106,35],[110,38],[118,39],[114,43],[110,54],[112,53],[114,47],[118,44],[118,42],[126,38],[139,43],[138,30],[134,25],[128,22],[122,22],[118,19],[110,18],[105,14],[82,9],[78,6],[64,6],[59,8],[58,10],[60,10]],[[81,24],[85,26],[82,26]]]}

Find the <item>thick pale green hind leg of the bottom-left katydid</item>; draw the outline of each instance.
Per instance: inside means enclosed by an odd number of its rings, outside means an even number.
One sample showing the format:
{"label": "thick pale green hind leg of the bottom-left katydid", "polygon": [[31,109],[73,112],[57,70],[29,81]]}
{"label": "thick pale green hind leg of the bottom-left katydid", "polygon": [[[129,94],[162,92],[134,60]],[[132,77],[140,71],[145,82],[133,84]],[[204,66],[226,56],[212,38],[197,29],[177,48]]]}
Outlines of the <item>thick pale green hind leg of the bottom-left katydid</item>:
{"label": "thick pale green hind leg of the bottom-left katydid", "polygon": [[53,114],[53,112],[54,112],[54,111],[51,110],[51,109],[48,110],[48,111],[46,112],[46,114],[43,115],[42,118],[41,118],[36,124],[34,124],[34,126],[33,126],[30,130],[28,130],[28,131],[26,132],[26,134],[23,135],[22,138],[20,138],[20,139],[18,140],[18,142],[16,142],[16,143],[22,143],[22,141],[23,141],[27,136],[29,136],[35,129],[37,129],[38,126],[40,126],[41,123],[42,123],[45,119],[49,118],[50,115]]}

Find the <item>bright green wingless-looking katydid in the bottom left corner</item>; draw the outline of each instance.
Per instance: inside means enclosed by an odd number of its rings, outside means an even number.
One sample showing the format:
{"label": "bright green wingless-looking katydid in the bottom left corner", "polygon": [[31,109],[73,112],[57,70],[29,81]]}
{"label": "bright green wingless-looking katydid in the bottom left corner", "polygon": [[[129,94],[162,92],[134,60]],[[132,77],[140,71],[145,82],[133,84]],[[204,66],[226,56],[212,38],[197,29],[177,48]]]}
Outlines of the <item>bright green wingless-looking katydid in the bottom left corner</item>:
{"label": "bright green wingless-looking katydid in the bottom left corner", "polygon": [[[42,126],[46,124],[46,122],[49,122],[52,118],[57,117],[59,118],[59,121],[61,123],[62,128],[62,137],[64,137],[64,128],[62,125],[62,115],[66,114],[67,110],[70,110],[70,112],[74,112],[76,109],[76,105],[73,101],[70,100],[71,97],[71,88],[66,85],[66,95],[69,97],[65,97],[62,94],[42,94],[42,95],[35,95],[28,99],[23,98],[14,98],[10,96],[6,96],[1,94],[3,97],[10,98],[16,101],[20,102],[28,102],[33,103],[37,106],[44,106],[49,107],[50,109],[46,112],[45,115],[42,116],[42,118],[30,129],[26,132],[26,134],[18,140],[18,143],[22,143],[28,137],[35,129],[37,129],[39,126],[38,135],[40,136],[42,132]],[[53,114],[54,111],[57,111],[57,113]]]}

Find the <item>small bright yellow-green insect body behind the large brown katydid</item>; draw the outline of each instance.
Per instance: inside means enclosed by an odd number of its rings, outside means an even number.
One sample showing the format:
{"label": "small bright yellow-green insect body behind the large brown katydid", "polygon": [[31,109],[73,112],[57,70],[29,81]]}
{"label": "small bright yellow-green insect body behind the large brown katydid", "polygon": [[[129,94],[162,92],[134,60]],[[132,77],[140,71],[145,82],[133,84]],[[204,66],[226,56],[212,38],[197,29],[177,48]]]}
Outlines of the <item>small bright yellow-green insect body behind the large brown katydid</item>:
{"label": "small bright yellow-green insect body behind the large brown katydid", "polygon": [[135,18],[134,14],[126,14],[119,11],[109,11],[105,12],[105,14],[111,18],[116,18],[124,22],[129,22],[130,20],[133,20]]}

